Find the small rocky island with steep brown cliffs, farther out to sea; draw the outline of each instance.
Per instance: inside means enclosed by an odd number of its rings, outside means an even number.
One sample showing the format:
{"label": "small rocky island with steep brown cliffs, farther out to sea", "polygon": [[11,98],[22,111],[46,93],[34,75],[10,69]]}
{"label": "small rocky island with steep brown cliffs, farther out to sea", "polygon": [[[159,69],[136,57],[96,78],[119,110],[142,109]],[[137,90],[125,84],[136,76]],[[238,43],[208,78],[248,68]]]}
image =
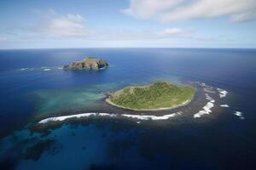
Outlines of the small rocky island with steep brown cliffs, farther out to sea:
{"label": "small rocky island with steep brown cliffs, farther out to sea", "polygon": [[103,59],[86,57],[80,61],[74,61],[70,65],[64,65],[66,70],[100,70],[108,66],[108,62]]}

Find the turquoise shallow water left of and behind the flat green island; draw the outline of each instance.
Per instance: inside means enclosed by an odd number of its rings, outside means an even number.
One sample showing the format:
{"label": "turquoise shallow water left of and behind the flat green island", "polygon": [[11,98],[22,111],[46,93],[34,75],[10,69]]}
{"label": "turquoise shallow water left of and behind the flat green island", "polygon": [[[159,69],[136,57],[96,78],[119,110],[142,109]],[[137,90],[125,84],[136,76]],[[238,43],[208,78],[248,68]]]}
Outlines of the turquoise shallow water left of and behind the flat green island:
{"label": "turquoise shallow water left of and behind the flat green island", "polygon": [[[154,77],[147,82],[165,80],[181,83],[176,77]],[[125,86],[136,84],[136,82],[112,82],[89,86],[86,88],[64,88],[55,90],[38,90],[32,96],[35,98],[36,114],[38,116],[55,116],[62,114],[77,114],[84,111],[95,111],[100,108],[102,101],[106,98],[104,92],[111,92]]]}

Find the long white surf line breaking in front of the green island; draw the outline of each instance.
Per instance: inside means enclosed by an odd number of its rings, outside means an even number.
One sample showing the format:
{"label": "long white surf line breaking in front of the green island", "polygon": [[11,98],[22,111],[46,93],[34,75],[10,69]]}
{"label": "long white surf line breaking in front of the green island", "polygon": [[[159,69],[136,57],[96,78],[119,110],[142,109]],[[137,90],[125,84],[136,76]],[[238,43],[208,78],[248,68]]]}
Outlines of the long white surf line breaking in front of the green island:
{"label": "long white surf line breaking in front of the green island", "polygon": [[182,114],[182,111],[178,111],[177,113],[172,113],[172,114],[164,115],[164,116],[110,114],[110,113],[82,113],[82,114],[69,115],[69,116],[49,117],[49,118],[41,120],[38,123],[65,121],[65,120],[70,119],[70,118],[81,118],[81,117],[89,117],[89,116],[109,116],[109,117],[124,116],[124,117],[128,117],[128,118],[139,119],[139,120],[166,120],[166,119],[169,119],[173,116],[177,116],[177,115],[181,115],[181,114]]}

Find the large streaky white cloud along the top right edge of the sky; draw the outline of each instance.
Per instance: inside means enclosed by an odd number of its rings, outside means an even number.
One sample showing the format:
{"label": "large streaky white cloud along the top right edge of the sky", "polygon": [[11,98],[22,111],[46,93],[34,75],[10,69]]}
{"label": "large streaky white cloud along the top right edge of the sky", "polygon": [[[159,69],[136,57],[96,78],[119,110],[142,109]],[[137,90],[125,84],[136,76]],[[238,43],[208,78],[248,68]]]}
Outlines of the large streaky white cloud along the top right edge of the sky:
{"label": "large streaky white cloud along the top right edge of the sky", "polygon": [[256,0],[130,0],[123,13],[163,22],[230,16],[233,21],[256,20]]}

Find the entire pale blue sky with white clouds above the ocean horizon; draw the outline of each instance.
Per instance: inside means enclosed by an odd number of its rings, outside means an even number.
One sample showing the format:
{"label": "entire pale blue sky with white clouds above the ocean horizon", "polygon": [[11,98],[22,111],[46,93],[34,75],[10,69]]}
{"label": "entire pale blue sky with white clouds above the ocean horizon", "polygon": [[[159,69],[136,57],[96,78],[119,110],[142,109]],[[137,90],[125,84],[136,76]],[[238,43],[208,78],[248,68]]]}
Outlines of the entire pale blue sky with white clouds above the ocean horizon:
{"label": "entire pale blue sky with white clouds above the ocean horizon", "polygon": [[1,0],[0,48],[256,48],[256,0]]}

